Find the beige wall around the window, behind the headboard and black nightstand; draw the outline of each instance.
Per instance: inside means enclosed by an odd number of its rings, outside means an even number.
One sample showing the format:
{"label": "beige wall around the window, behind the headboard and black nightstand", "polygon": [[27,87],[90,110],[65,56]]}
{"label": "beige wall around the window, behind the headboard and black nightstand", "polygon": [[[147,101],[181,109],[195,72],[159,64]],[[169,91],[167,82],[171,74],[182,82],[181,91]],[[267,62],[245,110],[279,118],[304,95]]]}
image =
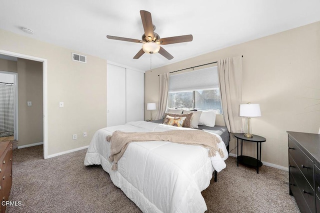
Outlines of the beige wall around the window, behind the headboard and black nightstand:
{"label": "beige wall around the window, behind the headboard and black nightstand", "polygon": [[[144,101],[158,102],[159,73],[238,55],[243,55],[242,103],[261,108],[262,116],[252,118],[253,133],[267,139],[261,160],[287,167],[286,131],[317,133],[320,126],[320,22],[146,71]],[[243,145],[243,154],[255,153],[255,144]]]}

